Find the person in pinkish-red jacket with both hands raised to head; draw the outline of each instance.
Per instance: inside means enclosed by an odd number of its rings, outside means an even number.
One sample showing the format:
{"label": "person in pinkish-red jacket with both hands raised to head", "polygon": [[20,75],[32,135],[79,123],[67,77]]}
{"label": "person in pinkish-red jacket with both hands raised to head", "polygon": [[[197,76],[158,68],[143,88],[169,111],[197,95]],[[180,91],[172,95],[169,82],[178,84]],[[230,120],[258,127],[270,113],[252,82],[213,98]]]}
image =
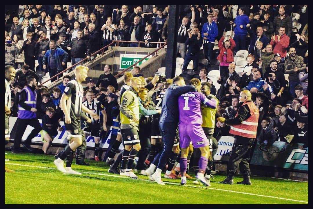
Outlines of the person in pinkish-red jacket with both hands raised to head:
{"label": "person in pinkish-red jacket with both hands raised to head", "polygon": [[228,70],[228,65],[234,61],[233,50],[236,46],[235,41],[232,38],[223,43],[225,37],[218,41],[219,55],[217,59],[220,61],[219,74],[222,76],[225,71]]}

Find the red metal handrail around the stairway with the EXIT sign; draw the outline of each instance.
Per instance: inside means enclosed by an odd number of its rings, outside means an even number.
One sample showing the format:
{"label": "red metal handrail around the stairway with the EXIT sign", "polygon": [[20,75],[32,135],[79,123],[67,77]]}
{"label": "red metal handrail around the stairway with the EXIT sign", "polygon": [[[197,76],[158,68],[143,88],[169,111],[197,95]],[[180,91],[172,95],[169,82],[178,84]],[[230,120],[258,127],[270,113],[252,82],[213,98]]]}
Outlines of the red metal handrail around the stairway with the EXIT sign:
{"label": "red metal handrail around the stairway with the EXIT sign", "polygon": [[[97,53],[100,52],[100,51],[102,51],[102,53],[101,53],[100,55],[104,54],[104,53],[105,53],[105,52],[104,52],[104,49],[107,48],[107,47],[109,47],[109,46],[112,45],[113,43],[116,43],[116,42],[117,42],[117,46],[119,46],[119,44],[118,44],[119,42],[124,42],[124,43],[138,43],[138,46],[140,45],[139,43],[146,43],[146,42],[144,42],[144,41],[120,41],[120,40],[113,40],[112,43],[110,43],[110,44],[106,45],[105,47],[99,49],[98,51],[94,52],[94,53],[91,54],[90,56],[94,56],[95,54],[97,54]],[[163,48],[163,47],[166,45],[166,42],[149,42],[149,43],[165,43],[162,47],[160,47],[160,48],[158,48],[157,50],[153,51],[151,54],[156,53],[156,51],[158,51],[159,49]],[[150,56],[151,54],[149,54],[148,56]],[[148,56],[146,56],[146,57],[148,57]],[[155,56],[156,56],[156,55],[155,55]],[[146,57],[143,58],[143,59],[146,59]],[[141,62],[143,59],[141,59],[141,60],[138,61],[138,62]],[[57,77],[56,81],[58,81],[60,74],[63,75],[63,73],[66,72],[67,70],[73,68],[74,66],[76,66],[76,65],[78,65],[78,64],[80,64],[80,63],[82,63],[82,62],[85,62],[86,60],[87,60],[87,58],[84,58],[84,59],[80,60],[79,62],[77,62],[77,63],[75,63],[75,64],[69,66],[69,67],[66,68],[65,70],[62,70],[62,71],[59,72],[58,74],[55,74],[55,75],[52,76],[50,79],[44,81],[44,82],[41,83],[40,85],[43,85],[44,83],[47,83],[48,81],[50,81],[51,79],[53,79],[53,78],[55,78],[55,77]],[[136,62],[135,64],[137,64],[138,62]],[[131,66],[130,66],[129,68],[127,68],[126,70],[130,69],[130,68],[131,68],[132,66],[134,66],[135,64],[131,65]],[[122,71],[122,73],[125,72],[126,70]],[[117,74],[117,75],[120,75],[120,74],[121,74],[121,73],[119,73],[119,74]],[[117,75],[115,75],[115,77],[116,77]]]}

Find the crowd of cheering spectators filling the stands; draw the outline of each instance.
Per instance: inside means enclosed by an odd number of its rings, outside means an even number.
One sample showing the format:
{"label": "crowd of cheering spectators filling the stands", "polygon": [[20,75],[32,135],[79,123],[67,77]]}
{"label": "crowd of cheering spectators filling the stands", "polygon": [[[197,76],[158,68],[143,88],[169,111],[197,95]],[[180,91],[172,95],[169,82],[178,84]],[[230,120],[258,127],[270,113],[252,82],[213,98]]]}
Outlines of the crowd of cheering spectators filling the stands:
{"label": "crowd of cheering spectators filling the stands", "polygon": [[[52,77],[64,70],[67,62],[92,59],[92,53],[112,40],[143,41],[141,47],[156,47],[149,42],[169,41],[167,34],[171,32],[167,29],[167,5],[24,5],[18,11],[22,12],[10,17],[12,27],[5,33],[5,65],[22,69],[12,85],[13,116],[17,115],[18,95],[27,85],[26,77],[31,75],[38,81],[35,60],[39,70]],[[301,27],[296,31],[292,13],[300,14],[297,23]],[[219,99],[217,116],[234,117],[240,91],[249,90],[260,111],[259,143],[269,147],[284,141],[285,145],[308,146],[308,5],[180,5],[179,23],[177,53],[184,59],[182,70],[192,60],[193,70],[200,70],[201,82],[212,84],[211,94]],[[234,35],[227,36],[228,31]],[[214,58],[216,41],[219,53]],[[120,46],[137,47],[138,43]],[[208,59],[206,69],[198,69],[201,48]],[[234,60],[239,50],[247,51],[247,64],[240,72]],[[220,87],[216,89],[208,75],[214,60],[219,65]],[[112,66],[105,65],[97,83],[90,79],[86,87],[105,107],[116,106],[119,95],[111,71]],[[139,68],[133,74],[142,76]],[[149,84],[140,78],[141,84]],[[55,117],[62,120],[59,100],[70,79],[64,76],[52,95],[46,87],[37,87],[38,119],[53,108]],[[148,95],[160,88],[155,80],[152,83],[154,88]],[[112,101],[116,104],[108,105]],[[228,131],[228,126],[217,122],[213,136],[229,135]]]}

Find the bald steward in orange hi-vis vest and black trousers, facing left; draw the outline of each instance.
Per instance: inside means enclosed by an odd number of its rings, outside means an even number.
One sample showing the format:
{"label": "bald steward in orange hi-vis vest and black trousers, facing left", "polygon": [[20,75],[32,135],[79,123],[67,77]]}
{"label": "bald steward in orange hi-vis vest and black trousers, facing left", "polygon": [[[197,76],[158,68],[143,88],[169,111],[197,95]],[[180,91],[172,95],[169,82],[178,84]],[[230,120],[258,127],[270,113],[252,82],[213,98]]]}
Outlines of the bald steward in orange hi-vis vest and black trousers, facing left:
{"label": "bald steward in orange hi-vis vest and black trousers, facing left", "polygon": [[240,92],[239,104],[240,107],[234,118],[217,118],[218,121],[230,125],[229,133],[233,134],[235,138],[233,151],[227,164],[227,177],[219,183],[233,184],[233,176],[237,173],[239,167],[244,180],[237,182],[237,184],[251,185],[249,159],[251,147],[256,138],[259,109],[251,100],[251,93],[248,90]]}

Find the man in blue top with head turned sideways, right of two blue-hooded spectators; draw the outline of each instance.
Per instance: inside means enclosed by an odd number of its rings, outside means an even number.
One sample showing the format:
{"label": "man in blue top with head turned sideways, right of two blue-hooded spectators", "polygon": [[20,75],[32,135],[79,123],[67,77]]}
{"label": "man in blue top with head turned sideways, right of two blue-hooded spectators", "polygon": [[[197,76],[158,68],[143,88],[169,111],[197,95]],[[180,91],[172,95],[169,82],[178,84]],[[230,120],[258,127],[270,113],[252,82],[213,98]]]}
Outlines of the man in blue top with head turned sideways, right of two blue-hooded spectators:
{"label": "man in blue top with head turned sideways, right of two blue-hooded spectators", "polygon": [[250,27],[250,20],[247,15],[244,14],[244,7],[239,8],[238,16],[235,18],[235,22],[233,24],[235,36],[234,41],[236,43],[235,53],[238,50],[246,49],[246,36],[247,36],[247,28]]}

